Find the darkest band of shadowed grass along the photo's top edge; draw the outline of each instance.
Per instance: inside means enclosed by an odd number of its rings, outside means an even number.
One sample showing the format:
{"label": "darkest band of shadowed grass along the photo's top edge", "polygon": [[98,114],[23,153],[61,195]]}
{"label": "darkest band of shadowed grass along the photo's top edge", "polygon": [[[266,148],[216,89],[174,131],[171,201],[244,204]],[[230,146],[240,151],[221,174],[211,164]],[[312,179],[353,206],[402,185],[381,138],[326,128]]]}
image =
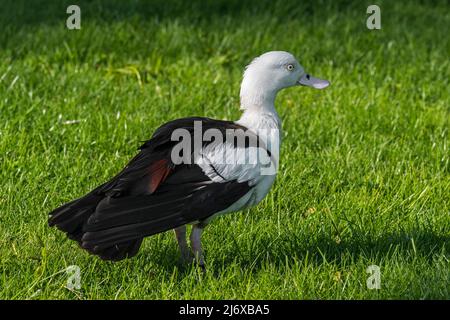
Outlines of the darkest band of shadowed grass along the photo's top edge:
{"label": "darkest band of shadowed grass along the photo's top edge", "polygon": [[[298,19],[300,14],[311,17],[333,6],[337,11],[355,7],[355,2],[341,0],[333,1],[270,1],[270,0],[4,0],[5,10],[0,12],[0,21],[22,27],[24,25],[60,24],[69,16],[66,9],[76,4],[81,8],[83,21],[101,20],[117,22],[134,18],[142,19],[175,19],[182,18],[198,22],[198,19],[210,20],[223,16],[240,17],[261,13],[291,13],[284,15],[287,19]],[[339,10],[340,9],[340,10]],[[274,10],[280,12],[274,12]],[[294,13],[294,14],[292,14]],[[136,22],[136,21],[134,21]]]}

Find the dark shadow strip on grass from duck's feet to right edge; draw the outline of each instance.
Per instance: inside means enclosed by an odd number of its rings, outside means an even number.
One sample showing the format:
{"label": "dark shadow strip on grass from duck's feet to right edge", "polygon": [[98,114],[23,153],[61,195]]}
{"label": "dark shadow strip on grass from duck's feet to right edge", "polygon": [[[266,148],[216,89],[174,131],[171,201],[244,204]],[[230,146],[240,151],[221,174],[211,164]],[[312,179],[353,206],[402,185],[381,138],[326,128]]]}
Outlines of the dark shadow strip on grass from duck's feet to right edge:
{"label": "dark shadow strip on grass from duck's feet to right edge", "polygon": [[[387,261],[392,257],[404,260],[418,256],[432,262],[435,254],[450,252],[450,237],[440,236],[426,231],[411,233],[386,234],[380,237],[355,237],[336,241],[332,238],[319,238],[306,242],[296,235],[286,234],[282,237],[261,239],[255,250],[246,250],[234,246],[226,246],[220,252],[220,258],[208,264],[206,252],[206,266],[218,274],[223,266],[237,264],[242,270],[257,272],[265,265],[271,264],[283,268],[286,263],[295,260],[308,259],[308,263],[315,265],[333,264],[343,267],[364,258],[368,261]],[[178,268],[179,278],[190,273],[191,266],[180,264],[179,252],[175,247],[158,248],[148,255],[148,259],[171,273]]]}

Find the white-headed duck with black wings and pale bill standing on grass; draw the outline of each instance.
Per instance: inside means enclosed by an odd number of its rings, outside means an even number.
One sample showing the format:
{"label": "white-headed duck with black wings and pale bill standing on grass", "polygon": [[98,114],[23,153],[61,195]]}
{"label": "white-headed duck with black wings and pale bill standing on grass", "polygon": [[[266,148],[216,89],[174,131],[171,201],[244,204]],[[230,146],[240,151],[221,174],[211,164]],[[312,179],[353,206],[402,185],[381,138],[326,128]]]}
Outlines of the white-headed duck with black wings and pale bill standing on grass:
{"label": "white-headed duck with black wings and pale bill standing on grass", "polygon": [[272,187],[281,143],[275,98],[297,85],[322,89],[329,82],[310,76],[288,52],[262,54],[245,69],[238,121],[192,117],[163,124],[110,181],[53,210],[49,225],[113,261],[136,255],[145,237],[174,229],[182,258],[204,268],[205,226],[258,204]]}

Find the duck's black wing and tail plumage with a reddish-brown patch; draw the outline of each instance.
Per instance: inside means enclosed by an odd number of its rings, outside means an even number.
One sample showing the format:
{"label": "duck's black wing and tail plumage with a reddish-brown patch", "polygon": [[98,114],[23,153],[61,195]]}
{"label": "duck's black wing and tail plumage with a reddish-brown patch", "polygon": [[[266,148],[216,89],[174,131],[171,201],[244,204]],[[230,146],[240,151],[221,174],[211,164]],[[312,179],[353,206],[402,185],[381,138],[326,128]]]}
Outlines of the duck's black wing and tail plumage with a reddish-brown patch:
{"label": "duck's black wing and tail plumage with a reddish-brown patch", "polygon": [[175,165],[173,130],[191,135],[194,121],[203,131],[245,129],[233,122],[184,118],[157,129],[140,152],[109,182],[50,213],[49,225],[66,232],[90,253],[121,260],[135,255],[142,239],[202,221],[222,211],[249,190],[248,183],[212,182],[196,164]]}

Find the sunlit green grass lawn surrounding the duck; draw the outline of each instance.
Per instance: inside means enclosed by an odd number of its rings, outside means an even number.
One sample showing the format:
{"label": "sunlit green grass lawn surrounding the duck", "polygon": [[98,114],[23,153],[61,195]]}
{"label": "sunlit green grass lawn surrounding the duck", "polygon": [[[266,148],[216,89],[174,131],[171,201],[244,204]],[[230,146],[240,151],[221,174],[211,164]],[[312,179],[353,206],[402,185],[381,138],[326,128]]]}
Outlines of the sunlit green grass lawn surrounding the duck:
{"label": "sunlit green grass lawn surrounding the duck", "polygon": [[[448,2],[378,1],[369,31],[371,1],[80,0],[69,31],[72,2],[1,4],[0,299],[450,298]],[[109,263],[47,226],[163,122],[237,119],[242,70],[270,50],[332,86],[280,94],[276,185],[208,226],[206,274],[171,232]]]}

